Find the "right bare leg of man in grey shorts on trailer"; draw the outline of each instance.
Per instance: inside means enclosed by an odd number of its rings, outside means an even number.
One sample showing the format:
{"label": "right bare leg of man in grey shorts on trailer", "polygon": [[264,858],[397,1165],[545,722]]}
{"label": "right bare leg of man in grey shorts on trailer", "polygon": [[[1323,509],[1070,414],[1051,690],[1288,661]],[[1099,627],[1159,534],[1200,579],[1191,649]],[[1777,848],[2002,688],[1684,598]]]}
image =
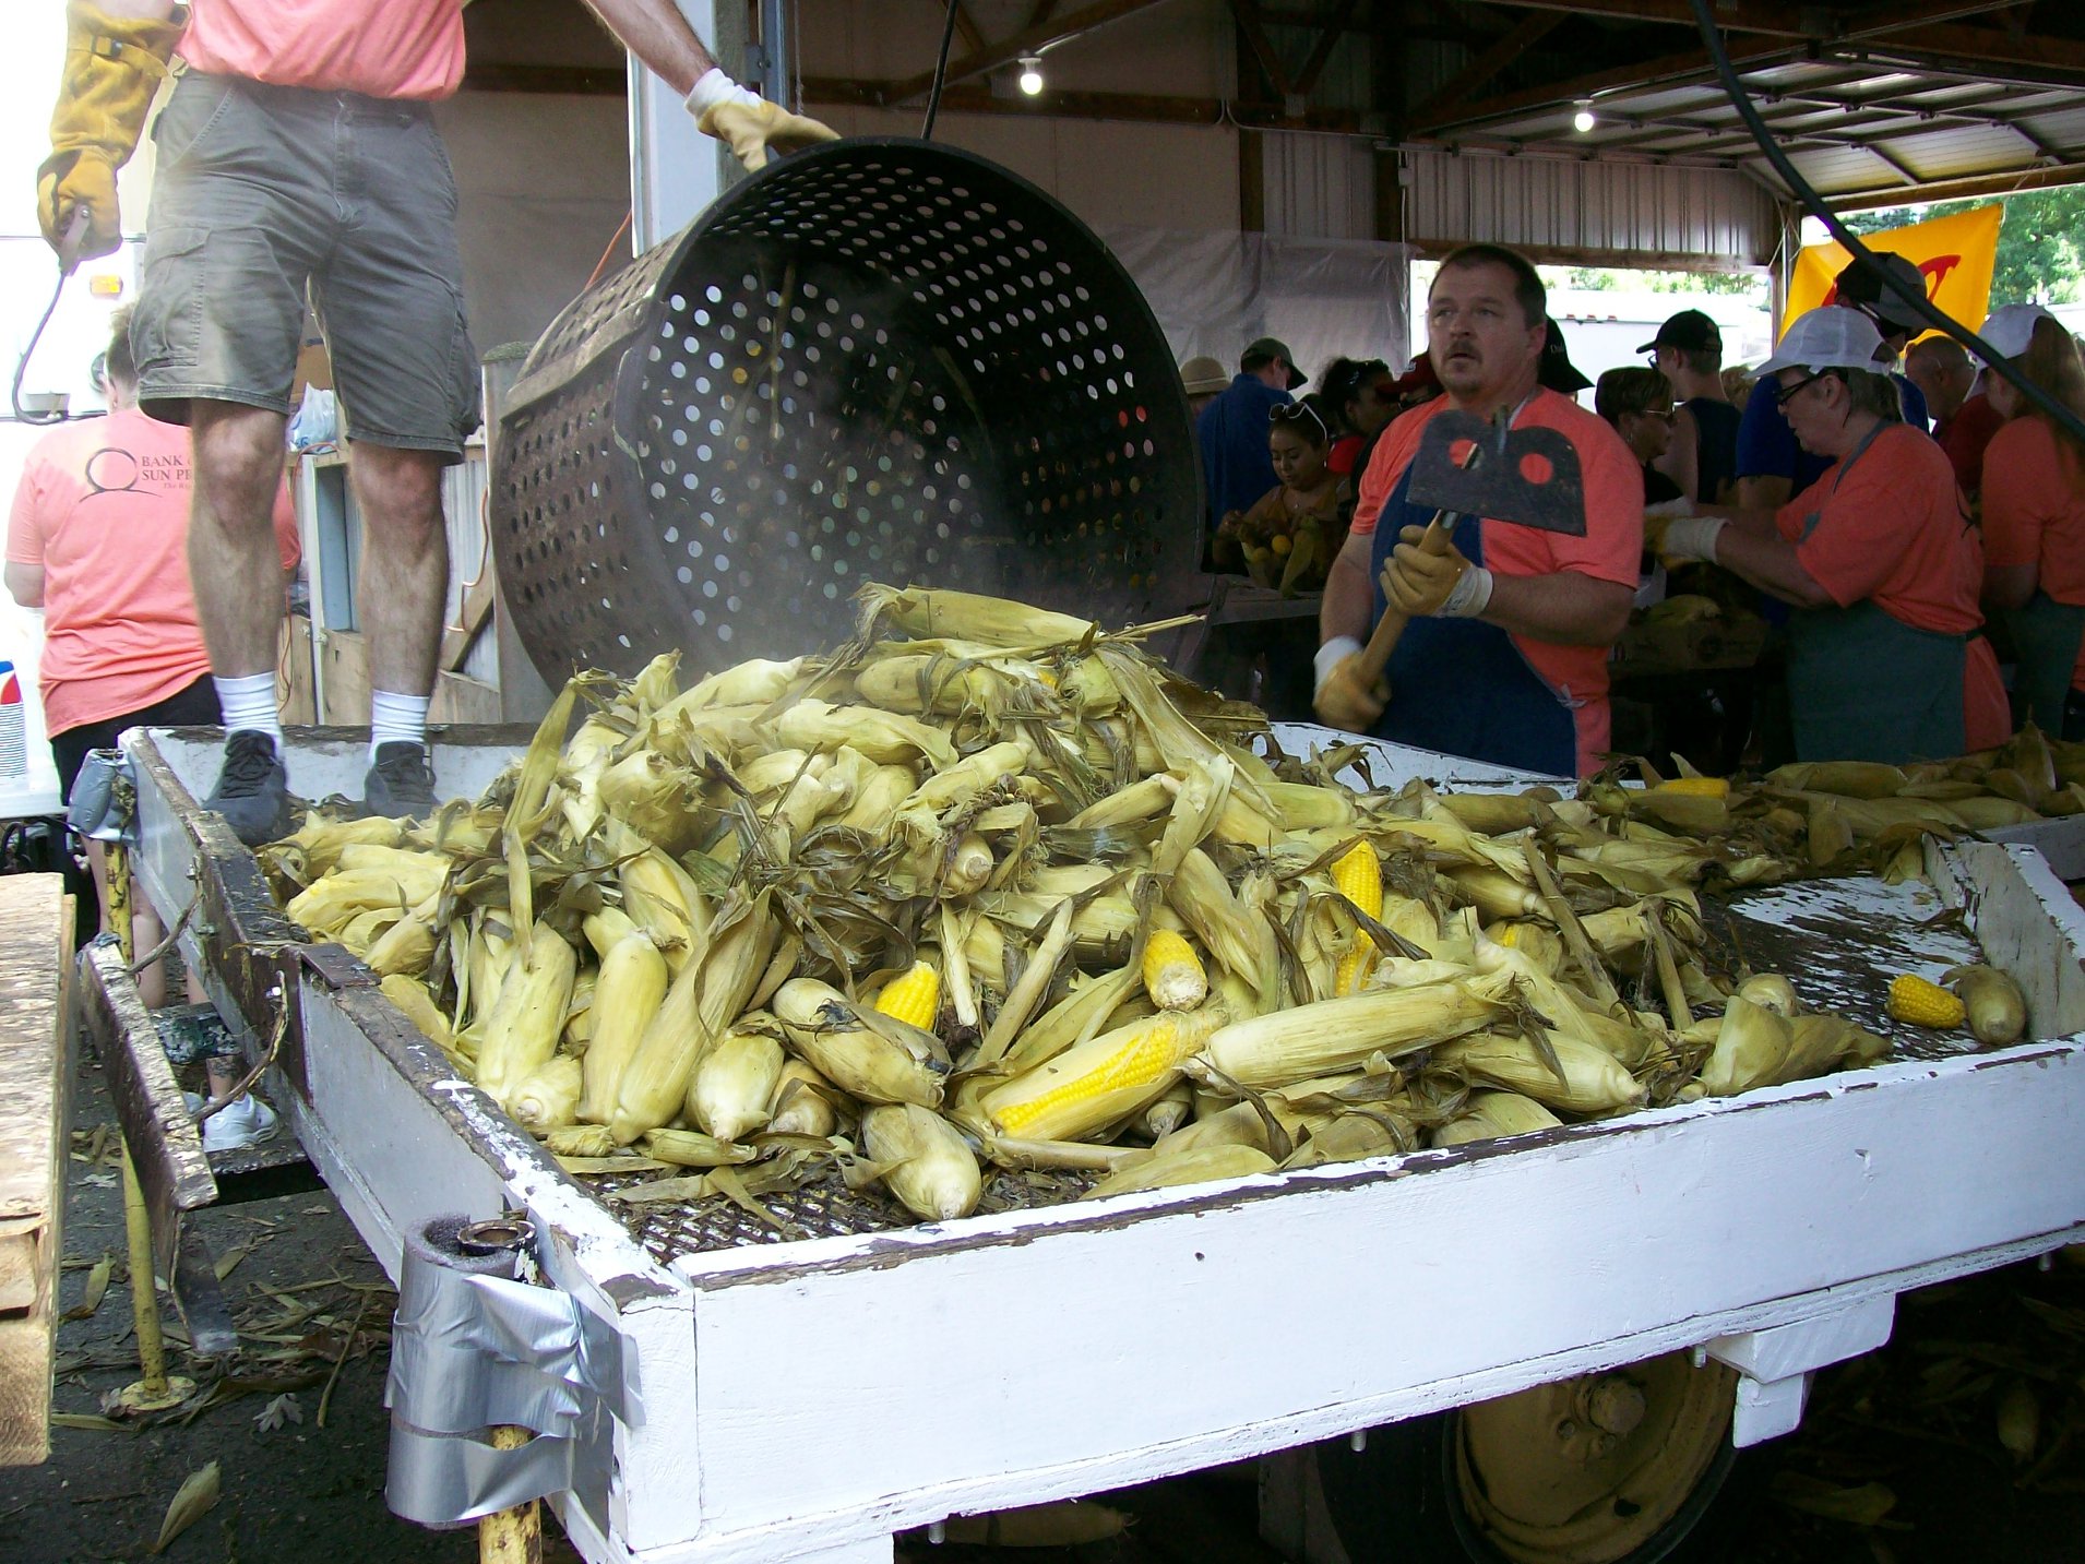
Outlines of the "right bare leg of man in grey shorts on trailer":
{"label": "right bare leg of man in grey shorts on trailer", "polygon": [[359,598],[371,690],[434,690],[448,594],[442,465],[432,450],[396,446],[357,444],[348,455],[363,509]]}

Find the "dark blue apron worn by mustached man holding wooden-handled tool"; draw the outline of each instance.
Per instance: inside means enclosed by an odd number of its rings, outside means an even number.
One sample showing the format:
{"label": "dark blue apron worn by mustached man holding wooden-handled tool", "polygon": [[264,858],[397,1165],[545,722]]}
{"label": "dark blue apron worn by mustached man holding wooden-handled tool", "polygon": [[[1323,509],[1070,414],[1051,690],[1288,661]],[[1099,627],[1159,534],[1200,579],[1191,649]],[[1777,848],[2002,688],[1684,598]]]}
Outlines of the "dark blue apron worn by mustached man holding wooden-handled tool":
{"label": "dark blue apron worn by mustached man holding wooden-handled tool", "polygon": [[[1374,626],[1387,607],[1382,567],[1403,528],[1432,521],[1430,507],[1409,503],[1412,473],[1397,480],[1376,519],[1368,555]],[[1455,548],[1472,565],[1485,563],[1482,523],[1466,515],[1455,523]],[[1514,638],[1478,619],[1414,619],[1384,669],[1391,703],[1372,738],[1418,744],[1445,755],[1512,765],[1549,776],[1578,774],[1578,724],[1572,703],[1528,665]]]}

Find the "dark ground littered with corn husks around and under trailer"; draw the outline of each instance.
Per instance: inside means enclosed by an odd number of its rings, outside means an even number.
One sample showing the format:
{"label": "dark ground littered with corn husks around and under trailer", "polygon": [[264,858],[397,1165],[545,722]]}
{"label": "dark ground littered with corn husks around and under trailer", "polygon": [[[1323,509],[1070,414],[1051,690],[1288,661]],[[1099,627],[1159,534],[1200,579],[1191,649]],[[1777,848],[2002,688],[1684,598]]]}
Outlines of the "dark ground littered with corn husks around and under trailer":
{"label": "dark ground littered with corn husks around and under trailer", "polygon": [[[198,1395],[108,1424],[102,1397],[136,1378],[123,1209],[98,1072],[75,1091],[56,1406],[71,1426],[38,1468],[0,1470],[0,1564],[148,1558],[183,1481],[219,1464],[221,1497],[165,1558],[188,1564],[384,1560],[463,1564],[471,1533],[430,1533],[384,1508],[384,1374],[394,1297],[325,1193],[204,1212],[246,1341],[231,1364],[173,1345]],[[96,1264],[106,1291],[83,1312]],[[169,1310],[169,1330],[179,1322]],[[2002,1426],[2016,1449],[2002,1443]],[[1749,1451],[1689,1543],[1745,1564],[2085,1560],[2085,1268],[2014,1266],[1899,1301],[1893,1343],[1824,1372],[1804,1428]],[[1103,1495],[1136,1518],[1068,1549],[930,1545],[907,1564],[1276,1564],[1255,1537],[1249,1474]],[[575,1554],[550,1526],[546,1556]],[[1357,1564],[1364,1564],[1357,1560]],[[1366,1562],[1374,1564],[1374,1562]],[[1384,1562],[1389,1564],[1389,1562]]]}

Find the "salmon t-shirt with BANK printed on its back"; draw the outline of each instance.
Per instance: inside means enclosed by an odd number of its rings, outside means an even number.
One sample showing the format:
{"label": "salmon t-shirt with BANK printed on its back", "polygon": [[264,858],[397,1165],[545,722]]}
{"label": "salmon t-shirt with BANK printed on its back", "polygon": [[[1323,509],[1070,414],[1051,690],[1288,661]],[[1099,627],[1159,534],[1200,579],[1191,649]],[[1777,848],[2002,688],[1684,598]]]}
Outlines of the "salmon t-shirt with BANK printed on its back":
{"label": "salmon t-shirt with BANK printed on its back", "polygon": [[[44,728],[125,717],[211,671],[188,588],[188,430],[138,409],[46,434],[8,515],[10,565],[44,569]],[[275,496],[281,567],[296,565],[290,488]],[[281,592],[281,580],[256,582]]]}

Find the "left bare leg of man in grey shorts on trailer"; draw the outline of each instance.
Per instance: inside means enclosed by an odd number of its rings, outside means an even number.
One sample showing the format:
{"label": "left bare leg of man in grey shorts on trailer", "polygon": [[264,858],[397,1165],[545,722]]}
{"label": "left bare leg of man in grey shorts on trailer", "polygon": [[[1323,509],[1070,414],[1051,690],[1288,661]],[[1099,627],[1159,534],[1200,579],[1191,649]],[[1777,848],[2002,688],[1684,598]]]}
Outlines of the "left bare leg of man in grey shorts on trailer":
{"label": "left bare leg of man in grey shorts on trailer", "polygon": [[196,488],[188,519],[188,576],[202,640],[219,678],[269,674],[281,636],[281,555],[275,490],[284,417],[236,402],[192,402]]}

